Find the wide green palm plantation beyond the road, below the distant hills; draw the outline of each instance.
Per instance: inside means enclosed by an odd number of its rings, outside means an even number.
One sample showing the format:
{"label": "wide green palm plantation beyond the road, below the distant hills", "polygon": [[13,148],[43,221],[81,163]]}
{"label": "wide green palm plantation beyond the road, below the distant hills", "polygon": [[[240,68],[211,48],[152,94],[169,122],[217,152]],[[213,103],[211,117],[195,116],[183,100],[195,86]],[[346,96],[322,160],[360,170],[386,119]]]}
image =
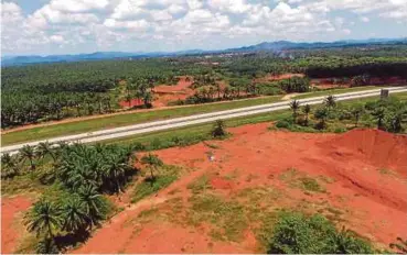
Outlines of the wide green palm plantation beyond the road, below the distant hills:
{"label": "wide green palm plantation beyond the road, below the distant hills", "polygon": [[[354,55],[350,55],[351,52]],[[353,48],[346,53],[332,48],[297,49],[289,54],[292,58],[258,53],[231,57],[214,55],[205,60],[216,65],[203,65],[202,56],[195,55],[2,67],[1,127],[110,113],[118,110],[119,101],[128,101],[131,106],[132,99],[143,104],[137,108],[151,108],[154,87],[176,84],[180,76],[193,79],[196,95],[175,104],[307,92],[310,78],[328,78],[340,86],[392,84],[392,77],[396,77],[397,82],[406,80],[403,45],[372,51]],[[272,79],[286,73],[301,73],[306,77]],[[90,130],[95,129],[86,131]],[[75,131],[66,133],[69,132]]]}

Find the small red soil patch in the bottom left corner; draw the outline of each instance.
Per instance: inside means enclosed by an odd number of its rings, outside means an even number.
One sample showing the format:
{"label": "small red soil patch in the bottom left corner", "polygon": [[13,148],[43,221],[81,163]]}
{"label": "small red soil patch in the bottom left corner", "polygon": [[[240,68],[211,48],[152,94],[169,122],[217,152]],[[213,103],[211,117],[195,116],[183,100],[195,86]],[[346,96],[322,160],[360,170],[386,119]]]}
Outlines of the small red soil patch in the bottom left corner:
{"label": "small red soil patch in the bottom left corner", "polygon": [[31,206],[26,197],[1,198],[1,254],[13,253],[24,228],[22,213]]}

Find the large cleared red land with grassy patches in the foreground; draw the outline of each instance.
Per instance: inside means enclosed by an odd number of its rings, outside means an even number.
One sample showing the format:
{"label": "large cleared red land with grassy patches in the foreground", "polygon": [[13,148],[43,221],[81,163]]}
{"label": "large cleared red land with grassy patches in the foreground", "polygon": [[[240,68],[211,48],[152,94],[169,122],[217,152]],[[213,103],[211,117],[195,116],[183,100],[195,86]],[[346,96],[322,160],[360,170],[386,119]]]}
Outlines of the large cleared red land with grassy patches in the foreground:
{"label": "large cleared red land with grassy patches in the foreground", "polygon": [[[405,136],[375,130],[302,134],[268,126],[245,125],[231,129],[234,135],[226,141],[157,152],[167,164],[182,167],[179,180],[125,208],[75,252],[265,252],[265,234],[281,209],[322,213],[381,247],[404,233]],[[115,236],[120,240],[108,242]]]}

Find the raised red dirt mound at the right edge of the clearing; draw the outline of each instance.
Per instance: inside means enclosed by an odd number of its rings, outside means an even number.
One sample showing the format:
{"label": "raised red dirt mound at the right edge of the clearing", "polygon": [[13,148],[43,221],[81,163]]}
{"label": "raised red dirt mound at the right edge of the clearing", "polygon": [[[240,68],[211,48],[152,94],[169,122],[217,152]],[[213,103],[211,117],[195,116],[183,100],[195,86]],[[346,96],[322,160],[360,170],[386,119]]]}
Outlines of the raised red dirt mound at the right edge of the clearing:
{"label": "raised red dirt mound at the right edge of the clearing", "polygon": [[336,153],[361,154],[377,167],[389,167],[407,176],[407,136],[379,130],[353,130],[326,143],[339,147]]}

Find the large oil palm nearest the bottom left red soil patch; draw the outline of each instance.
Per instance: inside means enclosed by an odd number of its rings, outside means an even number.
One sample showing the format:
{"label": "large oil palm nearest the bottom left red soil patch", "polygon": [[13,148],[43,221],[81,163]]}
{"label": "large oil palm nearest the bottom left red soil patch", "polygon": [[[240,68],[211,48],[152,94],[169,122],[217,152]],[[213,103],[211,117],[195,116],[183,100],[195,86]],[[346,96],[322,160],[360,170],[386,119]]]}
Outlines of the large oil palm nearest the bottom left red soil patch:
{"label": "large oil palm nearest the bottom left red soil patch", "polygon": [[41,199],[34,203],[34,207],[25,214],[24,224],[29,232],[45,234],[46,237],[54,237],[54,230],[62,223],[60,207],[46,199]]}

